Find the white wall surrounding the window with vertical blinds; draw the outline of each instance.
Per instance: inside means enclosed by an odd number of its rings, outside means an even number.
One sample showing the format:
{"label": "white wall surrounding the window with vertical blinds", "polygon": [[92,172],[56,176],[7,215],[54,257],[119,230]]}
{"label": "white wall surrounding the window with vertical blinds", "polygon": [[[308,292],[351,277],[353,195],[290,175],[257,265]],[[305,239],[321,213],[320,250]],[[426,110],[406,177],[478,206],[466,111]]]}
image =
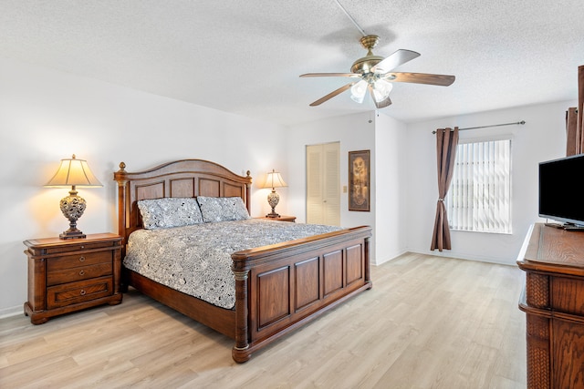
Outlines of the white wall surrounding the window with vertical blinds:
{"label": "white wall surrounding the window with vertical blinds", "polygon": [[[529,225],[537,217],[537,164],[566,155],[565,115],[577,101],[443,118],[407,126],[408,158],[406,207],[408,250],[455,258],[514,264]],[[433,221],[438,199],[436,178],[436,128],[486,126],[525,120],[523,126],[461,131],[460,137],[484,138],[507,135],[512,138],[512,223],[513,233],[487,234],[452,231],[452,251],[430,251]]]}

